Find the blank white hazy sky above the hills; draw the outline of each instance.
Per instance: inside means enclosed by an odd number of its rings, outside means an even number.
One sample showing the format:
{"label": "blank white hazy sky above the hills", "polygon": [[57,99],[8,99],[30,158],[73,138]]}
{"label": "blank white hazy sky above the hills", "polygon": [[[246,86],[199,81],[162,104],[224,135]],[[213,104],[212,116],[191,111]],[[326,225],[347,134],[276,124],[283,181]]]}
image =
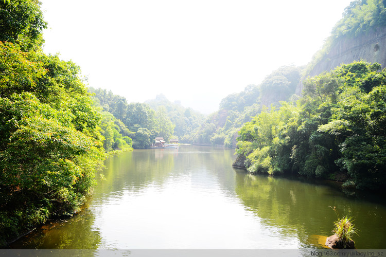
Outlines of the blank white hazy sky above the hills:
{"label": "blank white hazy sky above the hills", "polygon": [[208,114],[283,65],[305,65],[350,0],[41,0],[46,53],[128,102],[163,93]]}

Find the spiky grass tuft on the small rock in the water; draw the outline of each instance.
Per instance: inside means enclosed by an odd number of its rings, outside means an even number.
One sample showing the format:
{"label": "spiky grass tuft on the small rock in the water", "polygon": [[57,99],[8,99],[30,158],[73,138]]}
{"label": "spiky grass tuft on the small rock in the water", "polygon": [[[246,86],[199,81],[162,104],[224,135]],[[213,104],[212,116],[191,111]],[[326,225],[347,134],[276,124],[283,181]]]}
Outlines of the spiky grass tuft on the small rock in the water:
{"label": "spiky grass tuft on the small rock in the water", "polygon": [[343,246],[343,248],[346,248],[349,242],[352,241],[352,236],[357,234],[357,229],[353,224],[353,218],[347,217],[347,215],[340,218],[338,210],[335,206],[332,210],[335,211],[338,217],[338,221],[334,222],[335,228],[332,232],[338,236],[338,244]]}

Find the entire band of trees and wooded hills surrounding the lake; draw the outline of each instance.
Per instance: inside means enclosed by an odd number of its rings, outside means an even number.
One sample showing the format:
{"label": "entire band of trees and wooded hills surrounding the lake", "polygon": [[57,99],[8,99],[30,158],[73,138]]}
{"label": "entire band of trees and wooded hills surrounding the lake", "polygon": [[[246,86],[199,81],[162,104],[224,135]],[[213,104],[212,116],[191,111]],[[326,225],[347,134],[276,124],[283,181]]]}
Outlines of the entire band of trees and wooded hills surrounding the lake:
{"label": "entire band of trees and wooded hills surrounding the lake", "polygon": [[[384,7],[383,1],[353,1],[309,65],[279,67],[204,117],[163,95],[127,103],[106,89],[86,88],[75,63],[42,51],[47,23],[40,3],[0,1],[0,246],[49,218],[72,215],[108,154],[150,148],[156,137],[237,146],[235,165],[252,173],[381,189]],[[358,50],[350,59],[347,44],[356,39],[356,49],[372,51]],[[341,48],[349,63],[336,67]]]}

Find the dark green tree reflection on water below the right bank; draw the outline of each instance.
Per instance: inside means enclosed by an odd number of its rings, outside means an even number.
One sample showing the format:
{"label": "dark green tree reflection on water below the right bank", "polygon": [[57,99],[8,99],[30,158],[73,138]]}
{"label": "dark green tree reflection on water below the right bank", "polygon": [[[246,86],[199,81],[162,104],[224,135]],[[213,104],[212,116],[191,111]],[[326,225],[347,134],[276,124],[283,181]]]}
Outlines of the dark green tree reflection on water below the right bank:
{"label": "dark green tree reflection on water below the right bank", "polygon": [[302,247],[320,241],[320,235],[331,235],[337,216],[329,206],[336,206],[341,216],[354,217],[360,230],[359,236],[354,235],[357,248],[385,247],[384,205],[348,198],[323,185],[245,173],[237,173],[235,191],[243,204],[261,218],[262,224],[276,227],[283,234],[295,234]]}

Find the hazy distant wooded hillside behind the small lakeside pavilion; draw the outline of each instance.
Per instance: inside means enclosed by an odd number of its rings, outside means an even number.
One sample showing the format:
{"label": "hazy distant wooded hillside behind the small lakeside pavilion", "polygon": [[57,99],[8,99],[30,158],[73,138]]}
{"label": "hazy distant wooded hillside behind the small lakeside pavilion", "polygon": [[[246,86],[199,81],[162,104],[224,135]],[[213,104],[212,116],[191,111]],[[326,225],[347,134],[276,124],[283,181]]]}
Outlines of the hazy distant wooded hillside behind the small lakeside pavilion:
{"label": "hazy distant wooded hillside behind the small lakeside pavilion", "polygon": [[[123,139],[132,138],[134,149],[150,148],[156,137],[163,137],[166,142],[178,139],[181,143],[191,143],[202,124],[202,114],[179,103],[172,103],[164,95],[145,103],[127,103],[124,97],[106,89],[90,87],[89,91],[93,94],[95,106],[107,116],[113,115],[112,120],[116,125],[112,127],[112,135],[117,134],[115,129],[124,135]],[[112,141],[116,140],[112,138]]]}

